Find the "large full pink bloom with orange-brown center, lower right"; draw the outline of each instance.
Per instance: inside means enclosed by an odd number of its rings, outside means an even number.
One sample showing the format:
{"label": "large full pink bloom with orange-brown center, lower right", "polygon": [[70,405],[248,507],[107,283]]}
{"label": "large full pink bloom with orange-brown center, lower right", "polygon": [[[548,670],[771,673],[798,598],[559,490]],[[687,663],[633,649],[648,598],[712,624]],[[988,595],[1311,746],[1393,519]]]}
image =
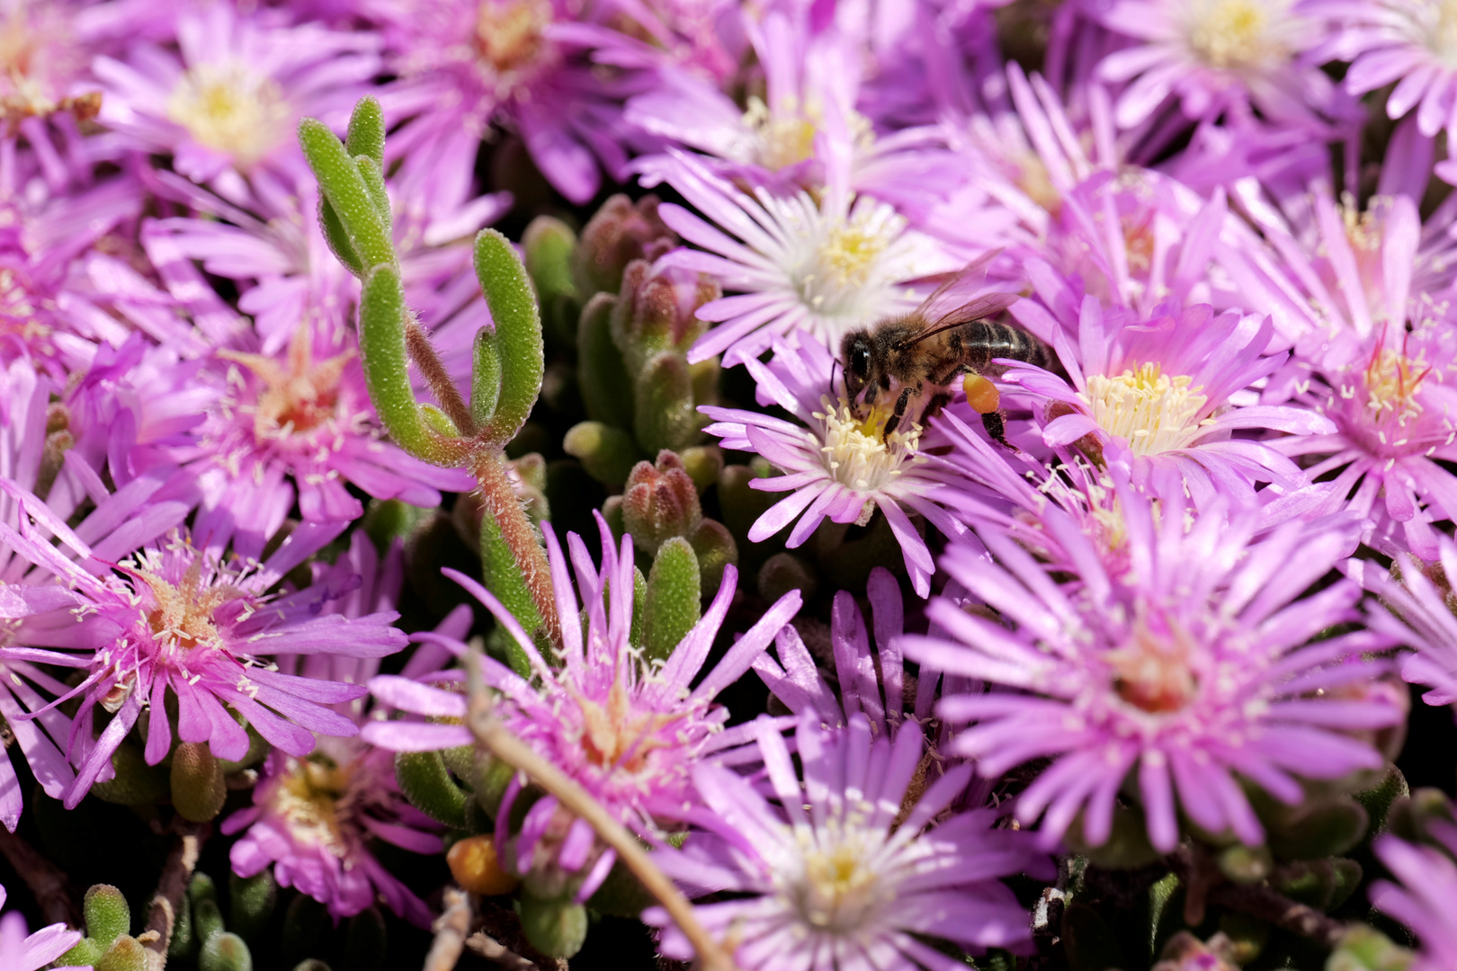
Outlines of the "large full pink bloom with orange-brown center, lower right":
{"label": "large full pink bloom with orange-brown center, lower right", "polygon": [[1380,769],[1374,734],[1405,718],[1405,697],[1377,678],[1387,662],[1362,655],[1399,641],[1359,629],[1361,590],[1340,579],[1301,594],[1345,555],[1349,523],[1287,523],[1252,540],[1256,517],[1205,510],[1192,526],[1123,505],[1131,569],[1104,566],[1094,539],[1049,511],[1077,581],[1059,585],[997,530],[979,533],[995,560],[953,544],[947,572],[1000,611],[967,613],[944,598],[928,617],[949,636],[908,635],[922,670],[982,678],[994,690],[944,694],[938,715],[970,725],[951,751],[997,777],[1049,758],[1017,799],[1017,818],[1056,844],[1078,814],[1083,837],[1109,839],[1125,777],[1136,770],[1148,837],[1179,841],[1179,814],[1246,844],[1263,827],[1236,773],[1281,802],[1305,798],[1295,776],[1333,779]]}

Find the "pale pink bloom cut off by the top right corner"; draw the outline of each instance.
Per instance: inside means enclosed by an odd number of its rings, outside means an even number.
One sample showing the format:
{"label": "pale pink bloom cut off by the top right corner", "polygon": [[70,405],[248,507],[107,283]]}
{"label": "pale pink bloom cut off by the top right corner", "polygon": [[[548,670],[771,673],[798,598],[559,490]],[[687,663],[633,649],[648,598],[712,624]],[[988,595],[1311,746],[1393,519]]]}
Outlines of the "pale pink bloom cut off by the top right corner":
{"label": "pale pink bloom cut off by the top right corner", "polygon": [[[1389,118],[1416,112],[1422,134],[1457,132],[1457,16],[1429,0],[1307,0],[1311,16],[1332,29],[1313,60],[1351,61],[1345,89],[1356,98],[1391,84]],[[1437,163],[1437,175],[1451,182],[1457,167]]]}

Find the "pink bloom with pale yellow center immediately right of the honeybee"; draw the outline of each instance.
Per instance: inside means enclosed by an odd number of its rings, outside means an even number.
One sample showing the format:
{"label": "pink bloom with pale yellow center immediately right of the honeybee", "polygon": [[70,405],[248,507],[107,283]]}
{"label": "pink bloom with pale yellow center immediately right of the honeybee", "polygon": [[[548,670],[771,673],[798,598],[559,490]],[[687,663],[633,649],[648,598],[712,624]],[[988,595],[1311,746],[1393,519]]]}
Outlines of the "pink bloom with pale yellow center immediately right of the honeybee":
{"label": "pink bloom with pale yellow center immediately right of the honeybee", "polygon": [[1272,335],[1269,317],[1196,304],[1144,320],[1088,296],[1077,332],[1052,335],[1068,380],[1027,364],[1010,365],[1005,380],[1052,403],[1042,429],[1049,445],[1096,441],[1110,457],[1129,456],[1135,483],[1180,476],[1201,507],[1220,494],[1253,502],[1254,483],[1298,488],[1304,476],[1271,444],[1231,432],[1333,431],[1319,413],[1241,395],[1285,361],[1265,354]]}

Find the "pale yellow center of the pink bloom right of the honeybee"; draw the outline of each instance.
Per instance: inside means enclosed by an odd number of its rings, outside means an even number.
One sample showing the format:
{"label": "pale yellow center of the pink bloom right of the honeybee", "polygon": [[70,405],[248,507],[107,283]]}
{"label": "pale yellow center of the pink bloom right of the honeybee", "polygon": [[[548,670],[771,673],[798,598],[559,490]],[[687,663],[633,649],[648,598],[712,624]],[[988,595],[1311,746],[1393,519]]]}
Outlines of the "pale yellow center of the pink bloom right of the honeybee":
{"label": "pale yellow center of the pink bloom right of the honeybee", "polygon": [[1104,377],[1091,374],[1081,397],[1103,431],[1128,441],[1138,456],[1186,448],[1212,419],[1199,419],[1206,399],[1186,376],[1169,377],[1157,364]]}

